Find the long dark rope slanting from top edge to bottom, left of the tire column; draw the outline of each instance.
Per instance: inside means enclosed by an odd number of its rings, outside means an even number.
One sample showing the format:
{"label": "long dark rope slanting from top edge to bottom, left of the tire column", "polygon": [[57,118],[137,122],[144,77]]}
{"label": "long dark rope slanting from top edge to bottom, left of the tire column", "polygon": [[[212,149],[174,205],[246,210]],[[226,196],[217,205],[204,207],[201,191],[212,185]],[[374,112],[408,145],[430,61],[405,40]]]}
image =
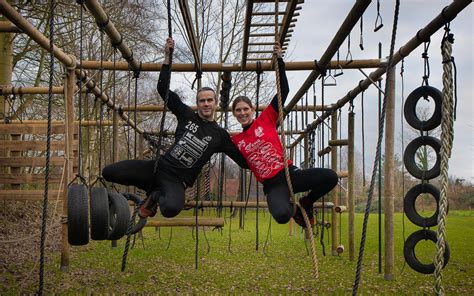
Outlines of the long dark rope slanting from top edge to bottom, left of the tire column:
{"label": "long dark rope slanting from top edge to bottom, left of the tire column", "polygon": [[384,133],[384,121],[385,121],[385,110],[386,110],[386,105],[387,105],[387,93],[388,93],[388,87],[389,84],[387,83],[390,79],[390,76],[392,75],[392,71],[389,71],[390,68],[392,67],[392,58],[393,58],[393,52],[395,48],[395,37],[397,34],[397,27],[398,27],[398,13],[400,9],[400,0],[395,1],[395,11],[394,11],[394,18],[393,18],[393,27],[392,27],[392,37],[390,41],[390,54],[388,57],[388,62],[387,62],[387,75],[386,75],[386,83],[385,83],[385,95],[384,95],[384,100],[382,103],[382,112],[381,116],[379,119],[379,134],[377,138],[377,149],[376,149],[376,156],[374,160],[374,166],[372,169],[372,178],[370,180],[370,189],[369,189],[369,194],[367,198],[367,205],[365,207],[365,213],[364,213],[364,222],[362,225],[362,237],[360,240],[360,247],[359,247],[359,256],[357,258],[357,269],[356,269],[356,276],[355,276],[355,281],[354,281],[354,286],[352,287],[352,295],[357,295],[357,290],[359,288],[359,283],[360,283],[360,276],[361,276],[361,271],[362,271],[362,260],[364,257],[364,248],[365,248],[365,240],[367,237],[367,224],[369,222],[369,215],[370,215],[370,205],[372,203],[372,197],[374,193],[374,187],[375,187],[375,177],[377,174],[377,167],[378,167],[378,162],[380,159],[381,151],[382,151],[382,138],[383,138],[383,133]]}

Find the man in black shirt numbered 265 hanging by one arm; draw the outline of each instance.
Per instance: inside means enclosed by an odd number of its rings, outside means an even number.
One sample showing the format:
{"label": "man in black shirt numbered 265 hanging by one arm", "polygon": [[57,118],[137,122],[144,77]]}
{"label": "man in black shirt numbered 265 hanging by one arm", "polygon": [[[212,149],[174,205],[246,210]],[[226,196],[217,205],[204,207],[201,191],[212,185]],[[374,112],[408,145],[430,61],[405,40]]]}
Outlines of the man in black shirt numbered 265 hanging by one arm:
{"label": "man in black shirt numbered 265 hanging by one arm", "polygon": [[214,121],[217,96],[212,88],[203,87],[196,95],[197,112],[184,104],[170,91],[170,53],[174,40],[168,38],[165,58],[158,80],[158,93],[167,102],[167,108],[176,116],[178,125],[175,142],[164,155],[155,160],[125,160],[105,167],[102,176],[110,182],[136,186],[147,192],[147,198],[139,209],[141,218],[153,217],[159,204],[164,217],[178,215],[184,207],[185,189],[195,182],[201,168],[212,154],[224,152],[239,166],[247,163],[233,145],[229,134]]}

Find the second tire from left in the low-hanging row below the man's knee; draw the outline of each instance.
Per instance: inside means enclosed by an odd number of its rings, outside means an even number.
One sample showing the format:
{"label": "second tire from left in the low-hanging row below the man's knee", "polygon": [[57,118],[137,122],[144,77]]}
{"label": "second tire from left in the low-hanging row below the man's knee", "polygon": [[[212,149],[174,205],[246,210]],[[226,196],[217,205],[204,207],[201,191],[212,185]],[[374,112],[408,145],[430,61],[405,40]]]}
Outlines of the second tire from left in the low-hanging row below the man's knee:
{"label": "second tire from left in the low-hanging row below the man's knee", "polygon": [[109,235],[109,193],[104,187],[91,188],[91,238],[105,240]]}

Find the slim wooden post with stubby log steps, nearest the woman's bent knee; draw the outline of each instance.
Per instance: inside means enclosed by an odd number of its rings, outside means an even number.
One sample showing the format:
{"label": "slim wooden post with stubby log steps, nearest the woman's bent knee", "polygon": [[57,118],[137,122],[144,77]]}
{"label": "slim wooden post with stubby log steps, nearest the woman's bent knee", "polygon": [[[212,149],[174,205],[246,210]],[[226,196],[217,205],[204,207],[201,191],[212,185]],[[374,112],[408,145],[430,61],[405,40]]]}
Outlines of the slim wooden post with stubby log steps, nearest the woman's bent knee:
{"label": "slim wooden post with stubby log steps, nearest the woman's bent knee", "polygon": [[[334,111],[331,116],[331,140],[337,139],[337,111]],[[337,172],[337,149],[332,149],[331,151],[331,168]],[[338,193],[339,193],[339,186],[334,187],[331,192],[331,199],[334,206],[338,206]],[[339,220],[337,219],[336,211],[334,207],[331,209],[331,250],[334,256],[337,256],[337,246],[338,246],[338,239],[339,239]]]}

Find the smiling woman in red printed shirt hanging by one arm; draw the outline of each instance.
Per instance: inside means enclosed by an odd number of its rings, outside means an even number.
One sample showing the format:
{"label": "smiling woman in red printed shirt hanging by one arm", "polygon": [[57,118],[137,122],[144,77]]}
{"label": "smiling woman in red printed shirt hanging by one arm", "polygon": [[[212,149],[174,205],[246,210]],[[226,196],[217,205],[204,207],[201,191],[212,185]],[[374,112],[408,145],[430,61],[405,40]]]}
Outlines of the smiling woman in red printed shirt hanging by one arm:
{"label": "smiling woman in red printed shirt hanging by one arm", "polygon": [[[282,105],[289,93],[285,63],[280,44],[275,42],[273,54],[276,55],[280,70]],[[290,218],[306,227],[299,207],[294,213],[290,191],[285,178],[283,148],[277,133],[278,96],[275,95],[267,108],[254,119],[255,108],[245,96],[238,96],[232,103],[232,113],[242,125],[243,131],[232,136],[232,142],[243,154],[257,180],[263,184],[267,195],[268,209],[278,223],[287,223]],[[299,199],[306,211],[310,224],[314,225],[313,203],[331,191],[337,184],[337,174],[331,169],[311,168],[301,170],[288,160],[291,183],[295,193],[309,191]]]}

